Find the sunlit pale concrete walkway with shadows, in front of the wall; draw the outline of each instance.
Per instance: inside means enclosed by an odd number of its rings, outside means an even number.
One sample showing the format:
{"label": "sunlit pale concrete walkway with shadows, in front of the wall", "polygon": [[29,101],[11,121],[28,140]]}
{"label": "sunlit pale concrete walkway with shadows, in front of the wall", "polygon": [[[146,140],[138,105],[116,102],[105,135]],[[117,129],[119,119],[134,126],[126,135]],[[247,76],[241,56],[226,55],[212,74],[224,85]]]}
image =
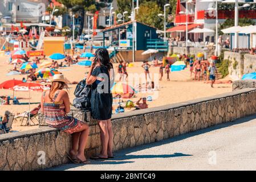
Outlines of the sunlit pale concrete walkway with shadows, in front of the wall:
{"label": "sunlit pale concrete walkway with shadows, in front of the wall", "polygon": [[116,152],[114,160],[48,170],[255,170],[256,115]]}

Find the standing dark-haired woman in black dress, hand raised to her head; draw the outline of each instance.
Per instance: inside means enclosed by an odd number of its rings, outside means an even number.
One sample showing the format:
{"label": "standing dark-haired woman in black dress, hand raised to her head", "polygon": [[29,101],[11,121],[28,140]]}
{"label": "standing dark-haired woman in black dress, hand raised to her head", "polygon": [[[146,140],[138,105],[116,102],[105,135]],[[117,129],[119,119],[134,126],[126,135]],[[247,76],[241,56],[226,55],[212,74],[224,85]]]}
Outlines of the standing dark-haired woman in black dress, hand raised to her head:
{"label": "standing dark-haired woman in black dress, hand raised to her head", "polygon": [[99,123],[101,139],[101,152],[97,156],[92,156],[91,159],[113,158],[111,123],[113,98],[110,91],[113,84],[113,65],[110,62],[107,49],[96,50],[86,83],[92,85],[92,118],[97,119]]}

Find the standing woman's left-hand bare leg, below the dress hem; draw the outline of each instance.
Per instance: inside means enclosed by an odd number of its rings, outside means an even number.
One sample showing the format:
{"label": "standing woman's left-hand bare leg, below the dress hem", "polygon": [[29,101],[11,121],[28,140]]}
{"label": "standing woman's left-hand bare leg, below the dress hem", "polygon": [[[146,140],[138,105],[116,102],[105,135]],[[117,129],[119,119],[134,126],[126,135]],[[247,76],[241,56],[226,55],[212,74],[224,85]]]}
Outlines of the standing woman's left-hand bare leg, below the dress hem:
{"label": "standing woman's left-hand bare leg, below the dress hem", "polygon": [[108,158],[108,123],[107,120],[100,120],[99,122],[100,126],[100,140],[101,140],[101,152],[100,155],[98,155],[100,158]]}

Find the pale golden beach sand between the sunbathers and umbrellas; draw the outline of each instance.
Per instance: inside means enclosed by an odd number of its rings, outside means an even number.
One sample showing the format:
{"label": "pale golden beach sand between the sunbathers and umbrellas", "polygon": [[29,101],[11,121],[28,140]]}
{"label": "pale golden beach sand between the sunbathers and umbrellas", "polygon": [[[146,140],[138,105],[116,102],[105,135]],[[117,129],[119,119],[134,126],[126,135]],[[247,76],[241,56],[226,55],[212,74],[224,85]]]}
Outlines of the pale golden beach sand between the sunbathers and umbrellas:
{"label": "pale golden beach sand between the sunbathers and umbrellas", "polygon": [[[23,77],[27,78],[27,75],[18,75],[18,76],[6,76],[8,71],[13,67],[13,65],[7,64],[7,60],[9,57],[0,57],[0,83],[6,80],[11,80],[13,78],[21,80]],[[144,73],[143,68],[141,68],[142,63],[136,62],[134,67],[127,68],[129,74],[131,73]],[[117,71],[117,64],[114,65],[115,72]],[[58,71],[62,72],[63,75],[71,82],[80,81],[86,76],[86,72],[88,72],[89,68],[85,68],[80,65],[72,65],[71,67],[60,68]],[[159,73],[159,67],[151,67],[149,69],[151,73]],[[144,77],[144,75],[141,75]],[[130,75],[130,80],[132,77],[137,77],[137,75]],[[118,80],[119,75],[116,73],[116,80]],[[154,78],[154,77],[153,77]],[[153,79],[152,79],[153,80]],[[228,80],[228,78],[225,78]],[[153,80],[154,81],[154,80]],[[145,82],[144,82],[145,83]],[[143,83],[142,83],[143,84]],[[70,101],[74,100],[74,90],[76,85],[68,85],[70,87]],[[137,87],[136,85],[132,85]],[[137,101],[140,97],[148,97],[153,96],[153,101],[148,102],[149,107],[156,107],[162,105],[173,104],[177,102],[184,102],[189,100],[194,100],[196,98],[214,96],[217,94],[222,94],[226,92],[231,92],[231,84],[216,84],[214,88],[210,87],[210,84],[205,84],[204,81],[194,81],[190,78],[189,69],[186,68],[184,71],[180,72],[171,72],[170,73],[170,81],[166,81],[166,75],[162,81],[155,81],[155,86],[159,88],[159,92],[151,92],[151,93],[137,93],[135,94],[135,98],[131,99],[121,99],[122,101],[132,100]],[[13,91],[11,90],[0,90],[0,96],[13,96]],[[29,102],[29,92],[15,92],[16,97],[22,97],[24,99],[19,100],[19,102]],[[40,98],[42,93],[40,92],[31,92],[31,103],[40,102]],[[113,107],[117,107],[117,103],[119,100],[113,101]],[[31,109],[38,106],[38,104],[31,104]],[[0,105],[0,115],[3,115],[5,111],[8,110],[15,115],[19,113],[23,113],[24,111],[29,110],[29,105],[13,105],[11,101],[11,105]],[[132,111],[133,109],[125,109],[125,111]],[[113,111],[115,113],[115,111]],[[38,126],[19,126],[21,124],[20,121],[14,121],[13,130],[14,131],[24,131],[36,129]]]}

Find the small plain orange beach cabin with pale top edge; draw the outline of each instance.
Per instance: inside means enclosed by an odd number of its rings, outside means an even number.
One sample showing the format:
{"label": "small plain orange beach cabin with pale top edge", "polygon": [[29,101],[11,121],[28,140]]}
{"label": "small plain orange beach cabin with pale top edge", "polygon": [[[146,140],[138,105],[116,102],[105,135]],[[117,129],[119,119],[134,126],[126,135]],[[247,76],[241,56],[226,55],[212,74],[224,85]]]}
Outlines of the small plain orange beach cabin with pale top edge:
{"label": "small plain orange beach cabin with pale top edge", "polygon": [[64,36],[47,36],[43,39],[44,55],[50,56],[54,53],[64,54]]}

